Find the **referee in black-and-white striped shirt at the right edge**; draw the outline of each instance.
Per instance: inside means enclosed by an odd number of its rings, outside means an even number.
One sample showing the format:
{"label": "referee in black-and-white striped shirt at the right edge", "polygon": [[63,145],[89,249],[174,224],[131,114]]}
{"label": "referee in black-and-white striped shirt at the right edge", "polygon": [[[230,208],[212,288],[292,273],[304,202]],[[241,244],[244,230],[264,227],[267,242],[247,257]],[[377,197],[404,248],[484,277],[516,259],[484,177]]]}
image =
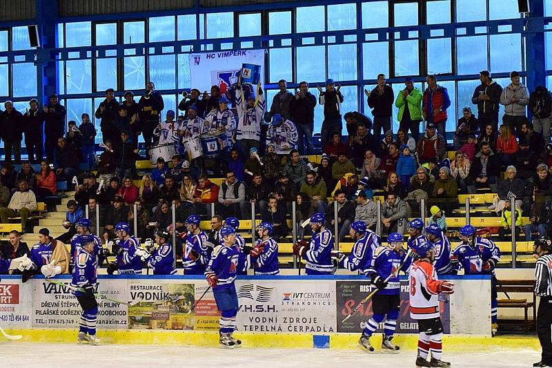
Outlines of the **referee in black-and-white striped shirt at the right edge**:
{"label": "referee in black-and-white striped shirt at the right edge", "polygon": [[533,256],[537,258],[535,266],[535,294],[540,296],[537,313],[537,334],[542,347],[540,362],[533,367],[552,367],[552,240],[541,236],[533,245]]}

